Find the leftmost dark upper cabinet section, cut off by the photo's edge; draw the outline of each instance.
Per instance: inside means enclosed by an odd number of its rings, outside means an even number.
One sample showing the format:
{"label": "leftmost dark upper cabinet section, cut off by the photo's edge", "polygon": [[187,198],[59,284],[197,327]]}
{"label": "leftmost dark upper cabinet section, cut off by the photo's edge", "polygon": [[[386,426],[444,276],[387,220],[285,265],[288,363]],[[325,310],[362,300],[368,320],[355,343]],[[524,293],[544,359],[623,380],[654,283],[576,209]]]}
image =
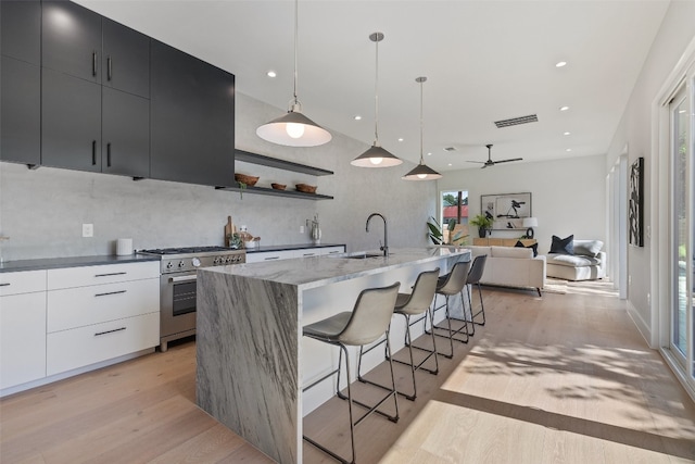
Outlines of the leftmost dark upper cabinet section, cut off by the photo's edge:
{"label": "leftmost dark upper cabinet section, cut off by the photo's edge", "polygon": [[0,1],[0,161],[41,160],[41,3]]}

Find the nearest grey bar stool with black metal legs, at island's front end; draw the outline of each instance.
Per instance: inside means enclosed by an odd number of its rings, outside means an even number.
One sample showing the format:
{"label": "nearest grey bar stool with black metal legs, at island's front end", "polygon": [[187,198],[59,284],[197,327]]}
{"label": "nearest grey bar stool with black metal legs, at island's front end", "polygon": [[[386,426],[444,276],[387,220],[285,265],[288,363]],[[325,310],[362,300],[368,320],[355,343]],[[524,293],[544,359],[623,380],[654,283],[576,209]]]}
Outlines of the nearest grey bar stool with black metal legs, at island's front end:
{"label": "nearest grey bar stool with black metal legs, at island's front end", "polygon": [[[304,388],[306,391],[314,386],[318,385],[323,380],[331,377],[333,374],[338,374],[338,381],[336,384],[336,394],[341,399],[346,399],[350,413],[350,442],[352,447],[352,461],[348,461],[341,457],[333,451],[330,451],[326,447],[317,443],[313,439],[303,436],[304,440],[308,441],[319,450],[331,455],[336,460],[342,463],[355,462],[355,435],[354,427],[362,423],[372,412],[380,413],[388,417],[391,422],[399,421],[399,400],[395,389],[395,377],[393,376],[393,363],[389,362],[391,367],[391,384],[392,388],[389,393],[383,397],[376,405],[370,406],[359,401],[353,400],[352,392],[350,390],[350,355],[346,347],[362,347],[364,344],[372,343],[386,334],[387,349],[389,355],[391,355],[391,343],[389,342],[389,326],[391,324],[391,316],[393,314],[393,306],[399,294],[400,283],[395,283],[389,287],[370,288],[363,290],[357,297],[355,306],[352,312],[343,312],[336,314],[334,316],[325,318],[317,323],[307,325],[303,329],[303,334],[306,337],[313,338],[318,341],[323,341],[329,344],[334,344],[340,348],[340,356],[338,359],[338,368],[330,372],[323,378],[316,380],[314,384]],[[340,392],[340,372],[343,360],[343,353],[345,354],[345,374],[348,376],[348,396],[345,397]],[[395,415],[391,416],[377,409],[383,404],[389,398],[393,397],[395,404]],[[357,421],[353,421],[352,406],[353,403],[366,407],[368,411],[359,417]]]}

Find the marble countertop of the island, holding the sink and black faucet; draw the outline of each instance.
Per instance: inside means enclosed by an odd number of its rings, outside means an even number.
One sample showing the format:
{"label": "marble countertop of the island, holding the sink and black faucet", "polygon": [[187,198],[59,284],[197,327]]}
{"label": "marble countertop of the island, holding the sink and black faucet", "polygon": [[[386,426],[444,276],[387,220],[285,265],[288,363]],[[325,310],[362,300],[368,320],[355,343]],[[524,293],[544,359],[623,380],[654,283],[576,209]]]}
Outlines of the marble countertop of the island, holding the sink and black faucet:
{"label": "marble countertop of the island, holding the sink and black faucet", "polygon": [[[377,250],[368,251],[367,253],[381,252]],[[199,269],[199,272],[229,274],[278,284],[295,285],[300,289],[308,289],[416,263],[438,261],[442,258],[470,255],[470,251],[465,248],[432,247],[397,248],[391,250],[388,258],[352,259],[348,258],[348,254],[354,253],[206,267]]]}

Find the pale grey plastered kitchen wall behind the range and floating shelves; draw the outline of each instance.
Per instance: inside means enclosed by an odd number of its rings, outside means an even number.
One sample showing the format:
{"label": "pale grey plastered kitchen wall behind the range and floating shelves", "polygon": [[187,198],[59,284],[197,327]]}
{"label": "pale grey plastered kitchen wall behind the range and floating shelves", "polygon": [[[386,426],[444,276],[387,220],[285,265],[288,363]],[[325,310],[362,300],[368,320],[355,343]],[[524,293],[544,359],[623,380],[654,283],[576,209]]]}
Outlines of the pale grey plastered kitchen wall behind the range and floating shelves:
{"label": "pale grey plastered kitchen wall behind the range and floating shelves", "polygon": [[[369,213],[389,220],[391,247],[426,243],[426,221],[435,211],[434,183],[410,183],[401,176],[412,163],[382,170],[353,167],[350,161],[366,143],[332,133],[333,140],[315,148],[278,147],[260,139],[255,128],[281,114],[237,93],[237,148],[333,171],[314,177],[243,165],[245,174],[261,175],[258,185],[299,181],[318,185],[334,200],[308,201],[217,191],[211,187],[161,180],[0,163],[0,241],[5,261],[114,252],[114,241],[130,237],[137,249],[222,244],[224,225],[231,215],[261,236],[262,244],[309,242],[300,226],[318,214],[324,242],[349,249],[378,248],[382,225],[365,233]],[[396,153],[397,154],[397,153]],[[93,238],[81,238],[81,224],[94,225]]]}

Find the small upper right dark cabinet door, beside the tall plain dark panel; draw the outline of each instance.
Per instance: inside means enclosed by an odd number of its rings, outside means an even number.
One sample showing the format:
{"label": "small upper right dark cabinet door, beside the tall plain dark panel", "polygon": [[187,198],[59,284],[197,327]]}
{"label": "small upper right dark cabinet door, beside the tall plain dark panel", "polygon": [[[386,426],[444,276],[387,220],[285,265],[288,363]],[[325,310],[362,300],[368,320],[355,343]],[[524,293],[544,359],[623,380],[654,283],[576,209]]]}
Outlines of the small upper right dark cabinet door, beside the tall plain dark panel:
{"label": "small upper right dark cabinet door, beside the tall plain dark panel", "polygon": [[150,98],[150,38],[106,17],[102,26],[102,85]]}

